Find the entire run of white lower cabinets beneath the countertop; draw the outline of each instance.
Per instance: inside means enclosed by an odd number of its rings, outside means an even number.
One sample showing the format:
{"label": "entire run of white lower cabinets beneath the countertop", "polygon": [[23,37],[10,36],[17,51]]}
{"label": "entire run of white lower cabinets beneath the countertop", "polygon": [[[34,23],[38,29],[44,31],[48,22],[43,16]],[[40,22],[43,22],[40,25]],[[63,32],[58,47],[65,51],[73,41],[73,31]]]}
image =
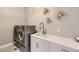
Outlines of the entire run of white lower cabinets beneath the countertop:
{"label": "entire run of white lower cabinets beneath the countertop", "polygon": [[79,51],[63,44],[59,44],[54,41],[49,41],[44,37],[39,37],[35,35],[31,36],[31,52],[78,52]]}

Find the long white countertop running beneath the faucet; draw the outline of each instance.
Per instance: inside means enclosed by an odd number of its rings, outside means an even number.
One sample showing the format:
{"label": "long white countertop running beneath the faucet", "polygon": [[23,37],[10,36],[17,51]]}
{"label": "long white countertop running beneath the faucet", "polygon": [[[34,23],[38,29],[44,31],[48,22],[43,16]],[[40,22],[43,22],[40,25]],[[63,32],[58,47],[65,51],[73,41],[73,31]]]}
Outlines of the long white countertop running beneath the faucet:
{"label": "long white countertop running beneath the faucet", "polygon": [[70,38],[65,38],[65,37],[60,37],[60,36],[54,36],[54,35],[50,35],[50,34],[46,34],[46,35],[39,35],[38,33],[36,34],[32,34],[32,36],[34,37],[38,37],[50,42],[54,42],[57,44],[61,44],[73,49],[76,49],[79,51],[79,42],[75,42],[73,39]]}

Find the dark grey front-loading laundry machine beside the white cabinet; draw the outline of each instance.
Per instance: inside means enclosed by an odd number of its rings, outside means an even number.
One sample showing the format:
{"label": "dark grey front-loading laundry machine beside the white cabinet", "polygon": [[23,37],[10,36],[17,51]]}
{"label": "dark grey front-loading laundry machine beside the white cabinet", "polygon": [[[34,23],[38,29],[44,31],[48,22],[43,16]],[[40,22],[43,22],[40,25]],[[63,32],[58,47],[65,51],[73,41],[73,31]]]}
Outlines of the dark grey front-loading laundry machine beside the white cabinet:
{"label": "dark grey front-loading laundry machine beside the white cabinet", "polygon": [[23,26],[23,25],[16,25],[14,26],[13,32],[13,42],[14,45],[21,51],[21,52],[29,52],[30,51],[30,35],[36,33],[35,26]]}

